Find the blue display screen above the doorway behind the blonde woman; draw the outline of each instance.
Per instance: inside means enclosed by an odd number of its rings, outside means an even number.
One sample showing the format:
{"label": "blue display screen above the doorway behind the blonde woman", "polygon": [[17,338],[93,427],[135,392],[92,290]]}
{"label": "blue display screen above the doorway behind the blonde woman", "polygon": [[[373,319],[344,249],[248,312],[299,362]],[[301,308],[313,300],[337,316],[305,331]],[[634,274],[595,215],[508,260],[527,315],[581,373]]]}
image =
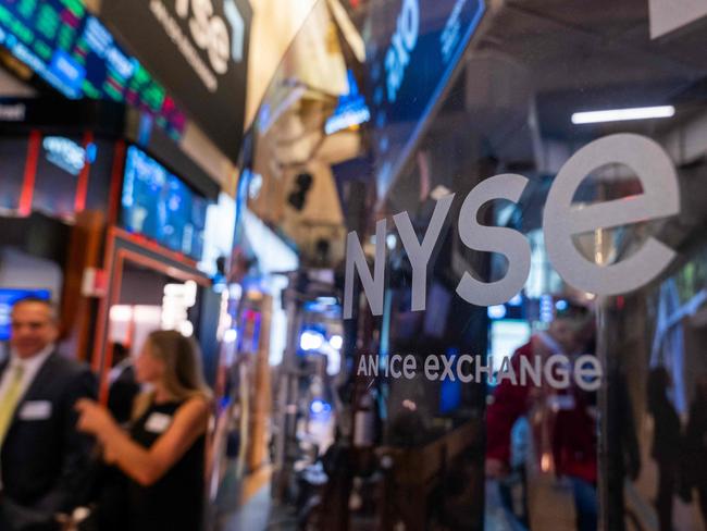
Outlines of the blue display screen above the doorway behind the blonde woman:
{"label": "blue display screen above the doorway behind the blonde woman", "polygon": [[122,206],[127,231],[201,259],[209,202],[135,146],[127,149]]}

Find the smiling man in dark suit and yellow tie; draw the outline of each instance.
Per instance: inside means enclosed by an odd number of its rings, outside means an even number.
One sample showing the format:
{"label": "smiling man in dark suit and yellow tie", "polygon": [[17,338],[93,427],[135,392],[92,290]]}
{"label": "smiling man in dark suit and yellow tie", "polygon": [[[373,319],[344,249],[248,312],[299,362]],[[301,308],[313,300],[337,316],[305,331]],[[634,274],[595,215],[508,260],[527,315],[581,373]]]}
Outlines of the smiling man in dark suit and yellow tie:
{"label": "smiling man in dark suit and yellow tie", "polygon": [[[92,441],[74,404],[95,396],[88,368],[55,351],[53,307],[26,298],[12,310],[10,358],[0,365],[0,529],[58,529],[86,480]],[[4,522],[2,521],[4,518]]]}

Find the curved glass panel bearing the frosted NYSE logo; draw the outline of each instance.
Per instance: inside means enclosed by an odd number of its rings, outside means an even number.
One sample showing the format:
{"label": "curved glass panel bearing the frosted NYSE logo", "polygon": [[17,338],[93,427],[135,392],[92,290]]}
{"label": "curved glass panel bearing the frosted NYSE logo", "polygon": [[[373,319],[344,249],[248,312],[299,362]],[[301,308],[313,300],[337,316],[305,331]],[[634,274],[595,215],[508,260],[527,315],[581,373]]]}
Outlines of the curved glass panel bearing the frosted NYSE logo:
{"label": "curved glass panel bearing the frosted NYSE logo", "polygon": [[263,526],[702,529],[705,10],[343,3],[243,153],[241,208],[301,261],[285,289],[249,270],[287,318]]}

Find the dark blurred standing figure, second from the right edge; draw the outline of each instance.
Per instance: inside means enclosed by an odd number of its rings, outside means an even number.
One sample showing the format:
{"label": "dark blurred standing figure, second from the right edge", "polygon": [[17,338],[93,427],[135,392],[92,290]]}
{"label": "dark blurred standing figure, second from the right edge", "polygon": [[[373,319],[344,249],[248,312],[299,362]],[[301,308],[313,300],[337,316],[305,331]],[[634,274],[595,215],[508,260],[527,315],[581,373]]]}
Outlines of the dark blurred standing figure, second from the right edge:
{"label": "dark blurred standing figure, second from the right edge", "polygon": [[650,456],[658,465],[656,511],[660,531],[672,531],[672,506],[681,450],[680,417],[668,392],[672,386],[665,367],[648,374],[648,411],[653,416],[653,448]]}

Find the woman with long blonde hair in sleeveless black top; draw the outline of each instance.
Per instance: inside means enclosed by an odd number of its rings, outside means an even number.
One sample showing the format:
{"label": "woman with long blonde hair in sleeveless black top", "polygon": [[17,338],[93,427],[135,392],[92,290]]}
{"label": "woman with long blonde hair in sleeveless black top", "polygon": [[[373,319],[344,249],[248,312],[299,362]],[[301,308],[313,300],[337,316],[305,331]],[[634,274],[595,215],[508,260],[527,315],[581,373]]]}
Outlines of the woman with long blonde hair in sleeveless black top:
{"label": "woman with long blonde hair in sleeveless black top", "polygon": [[136,399],[129,431],[91,400],[76,406],[78,429],[92,434],[104,460],[125,476],[120,513],[126,521],[119,529],[197,531],[211,409],[198,347],[177,332],[152,332],[135,369],[138,382],[152,391]]}

